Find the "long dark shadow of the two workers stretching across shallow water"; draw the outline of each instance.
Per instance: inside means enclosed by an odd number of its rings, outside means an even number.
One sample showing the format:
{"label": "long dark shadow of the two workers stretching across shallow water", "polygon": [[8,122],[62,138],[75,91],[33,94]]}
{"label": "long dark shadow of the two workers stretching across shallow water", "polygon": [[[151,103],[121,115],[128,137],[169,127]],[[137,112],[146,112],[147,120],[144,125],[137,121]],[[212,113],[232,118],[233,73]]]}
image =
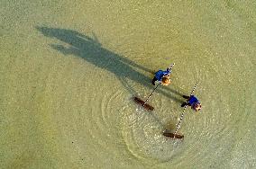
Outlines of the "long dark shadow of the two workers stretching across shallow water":
{"label": "long dark shadow of the two workers stretching across shallow water", "polygon": [[[79,58],[84,58],[87,62],[94,64],[96,67],[104,68],[105,70],[113,73],[118,77],[118,79],[121,80],[122,84],[127,90],[130,91],[130,93],[135,94],[136,92],[133,90],[133,87],[129,86],[125,82],[125,78],[129,78],[134,82],[143,84],[145,87],[149,88],[149,94],[151,93],[154,87],[151,84],[151,78],[144,76],[140,72],[136,71],[135,68],[142,69],[146,72],[151,72],[151,70],[103,48],[95,35],[94,38],[90,38],[87,35],[79,33],[78,31],[48,27],[36,27],[36,29],[41,31],[44,36],[58,39],[67,43],[69,46],[67,48],[59,44],[50,44],[52,49],[56,49],[64,55],[70,54]],[[157,92],[166,95],[176,102],[183,102],[174,96],[175,94],[178,96],[181,96],[182,94],[170,89],[169,87],[160,86],[157,89]]]}

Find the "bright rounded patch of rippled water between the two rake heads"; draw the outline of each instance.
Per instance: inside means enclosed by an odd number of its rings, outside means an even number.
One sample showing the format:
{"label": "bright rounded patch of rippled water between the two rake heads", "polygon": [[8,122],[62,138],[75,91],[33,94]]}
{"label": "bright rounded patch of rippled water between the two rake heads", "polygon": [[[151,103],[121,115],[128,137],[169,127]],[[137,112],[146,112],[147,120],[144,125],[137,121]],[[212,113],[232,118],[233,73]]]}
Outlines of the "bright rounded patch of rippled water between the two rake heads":
{"label": "bright rounded patch of rippled water between the two rake heads", "polygon": [[122,111],[123,138],[133,156],[162,163],[178,153],[180,141],[163,137],[164,127],[154,113],[131,101]]}

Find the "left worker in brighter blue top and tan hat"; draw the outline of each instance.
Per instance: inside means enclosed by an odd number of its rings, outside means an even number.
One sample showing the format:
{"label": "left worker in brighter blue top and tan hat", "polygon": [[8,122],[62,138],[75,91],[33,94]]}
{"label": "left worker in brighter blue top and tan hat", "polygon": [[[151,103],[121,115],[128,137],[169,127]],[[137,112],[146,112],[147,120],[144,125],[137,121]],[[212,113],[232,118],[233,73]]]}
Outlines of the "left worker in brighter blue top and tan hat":
{"label": "left worker in brighter blue top and tan hat", "polygon": [[154,78],[152,79],[152,84],[155,85],[156,81],[159,81],[160,84],[168,85],[170,84],[169,74],[171,73],[170,68],[168,67],[166,71],[159,70],[155,73]]}

